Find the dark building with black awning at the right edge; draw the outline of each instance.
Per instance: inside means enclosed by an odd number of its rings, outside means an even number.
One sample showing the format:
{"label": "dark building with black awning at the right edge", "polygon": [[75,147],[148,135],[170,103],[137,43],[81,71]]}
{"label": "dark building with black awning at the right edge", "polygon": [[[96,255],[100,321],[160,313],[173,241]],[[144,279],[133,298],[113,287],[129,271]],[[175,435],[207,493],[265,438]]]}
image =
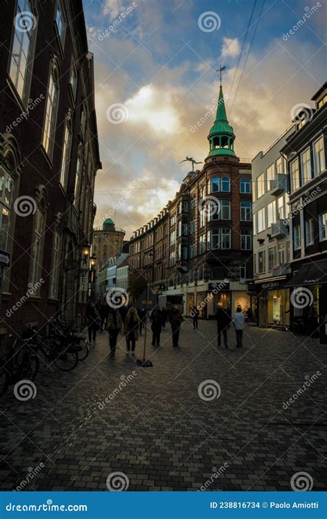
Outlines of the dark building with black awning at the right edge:
{"label": "dark building with black awning at the right edge", "polygon": [[287,283],[294,331],[327,342],[327,83],[315,93],[315,110],[304,110],[281,153],[288,164],[287,224],[293,259]]}

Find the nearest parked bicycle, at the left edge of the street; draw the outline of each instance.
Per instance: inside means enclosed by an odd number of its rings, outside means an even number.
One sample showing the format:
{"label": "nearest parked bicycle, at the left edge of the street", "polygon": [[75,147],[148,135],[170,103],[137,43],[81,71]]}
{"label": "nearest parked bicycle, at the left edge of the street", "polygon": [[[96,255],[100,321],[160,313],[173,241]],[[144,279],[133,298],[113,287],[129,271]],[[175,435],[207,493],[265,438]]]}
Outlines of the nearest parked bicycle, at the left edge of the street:
{"label": "nearest parked bicycle, at the left edge of the street", "polygon": [[[14,351],[19,341],[23,342],[23,346],[18,351]],[[33,382],[39,371],[39,358],[35,354],[36,348],[37,346],[31,337],[26,339],[17,337],[11,347],[13,353],[5,353],[1,357],[0,396],[6,393],[8,386],[17,384],[20,380]]]}

